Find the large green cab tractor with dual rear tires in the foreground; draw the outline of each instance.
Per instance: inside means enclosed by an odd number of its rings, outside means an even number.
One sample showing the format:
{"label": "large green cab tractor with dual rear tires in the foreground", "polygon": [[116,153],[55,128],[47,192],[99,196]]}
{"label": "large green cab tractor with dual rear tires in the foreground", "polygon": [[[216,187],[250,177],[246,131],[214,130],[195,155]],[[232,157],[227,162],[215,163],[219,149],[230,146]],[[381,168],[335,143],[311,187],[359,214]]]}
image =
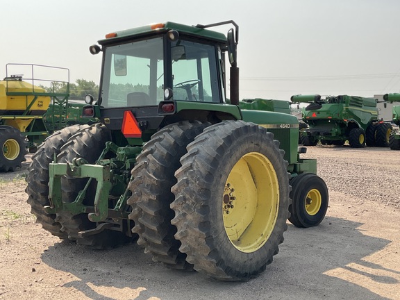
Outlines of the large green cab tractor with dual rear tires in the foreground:
{"label": "large green cab tractor with dual rear tires in the foreground", "polygon": [[[208,29],[225,24],[227,37]],[[272,262],[287,219],[322,222],[328,190],[300,158],[297,118],[239,106],[237,44],[233,21],[166,22],[90,47],[101,96],[83,116],[99,122],[47,138],[26,177],[43,228],[94,249],[137,240],[169,268],[244,281]]]}

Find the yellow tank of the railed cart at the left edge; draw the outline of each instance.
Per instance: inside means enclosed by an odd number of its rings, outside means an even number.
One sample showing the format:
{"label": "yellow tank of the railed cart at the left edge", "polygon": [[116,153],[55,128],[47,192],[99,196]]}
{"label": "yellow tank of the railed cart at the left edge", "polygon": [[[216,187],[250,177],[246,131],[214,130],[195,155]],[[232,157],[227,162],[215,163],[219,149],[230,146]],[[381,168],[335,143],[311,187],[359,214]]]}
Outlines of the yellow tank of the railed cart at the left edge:
{"label": "yellow tank of the railed cart at the left edge", "polygon": [[[22,92],[24,95],[15,96],[7,95],[7,92]],[[12,79],[8,81],[0,81],[0,111],[24,111],[31,104],[35,95],[33,93],[46,92],[44,89],[31,85],[26,81]],[[50,97],[38,96],[30,110],[32,113],[28,115],[43,115],[49,108]],[[15,113],[13,113],[15,114]]]}

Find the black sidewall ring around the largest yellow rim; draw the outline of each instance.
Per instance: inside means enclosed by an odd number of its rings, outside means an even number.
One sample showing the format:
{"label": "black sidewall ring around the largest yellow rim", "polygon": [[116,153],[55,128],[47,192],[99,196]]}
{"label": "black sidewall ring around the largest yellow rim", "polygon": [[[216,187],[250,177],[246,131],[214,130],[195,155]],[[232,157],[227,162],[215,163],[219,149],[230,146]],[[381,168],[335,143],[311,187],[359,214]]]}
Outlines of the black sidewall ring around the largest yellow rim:
{"label": "black sidewall ring around the largest yellow rim", "polygon": [[[286,164],[284,163],[280,151],[274,147],[274,141],[272,138],[268,139],[266,137],[267,135],[272,135],[272,133],[260,130],[257,136],[253,136],[253,134],[244,136],[238,135],[238,138],[232,141],[231,147],[229,147],[229,150],[222,159],[215,161],[215,176],[213,178],[214,188],[211,188],[210,203],[208,203],[210,208],[208,219],[215,220],[215,222],[208,224],[208,226],[210,226],[210,236],[216,237],[215,240],[219,242],[219,244],[215,244],[214,247],[219,253],[223,253],[225,263],[229,263],[229,265],[233,267],[240,265],[242,268],[248,268],[249,272],[257,266],[260,266],[260,260],[264,260],[267,256],[272,257],[274,253],[269,253],[270,251],[278,251],[277,246],[282,242],[282,235],[283,231],[286,229],[286,219],[288,218],[290,188]],[[253,140],[260,140],[262,144],[254,143]],[[235,149],[235,151],[231,149]],[[222,211],[222,198],[226,180],[231,169],[238,163],[238,160],[240,160],[242,156],[250,152],[262,153],[274,166],[278,178],[280,200],[278,203],[276,224],[267,242],[265,242],[260,249],[252,253],[244,253],[233,246],[226,234]],[[214,241],[210,240],[209,242]],[[246,263],[243,264],[244,262]],[[235,271],[246,272],[245,269]]]}

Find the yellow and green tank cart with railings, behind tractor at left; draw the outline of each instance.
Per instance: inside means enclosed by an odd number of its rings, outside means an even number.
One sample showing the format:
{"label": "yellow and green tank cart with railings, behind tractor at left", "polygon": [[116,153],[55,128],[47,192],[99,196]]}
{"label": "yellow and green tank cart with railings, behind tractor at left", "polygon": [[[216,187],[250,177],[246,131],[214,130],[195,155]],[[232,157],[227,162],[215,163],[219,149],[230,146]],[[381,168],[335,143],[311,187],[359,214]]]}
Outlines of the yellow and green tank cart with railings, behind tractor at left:
{"label": "yellow and green tank cart with railings, behind tractor at left", "polygon": [[[22,70],[30,72],[31,76],[8,76],[10,72]],[[50,81],[41,75],[52,72],[61,72],[65,81]],[[49,82],[49,90],[36,85]],[[57,84],[64,84],[65,91],[54,91],[53,86]],[[71,104],[68,97],[69,69],[31,64],[6,65],[6,78],[0,81],[0,147],[3,150],[0,151],[0,172],[13,172],[21,167],[26,160],[26,149],[35,152],[50,133],[72,122],[85,124],[95,121],[82,119],[85,103]]]}

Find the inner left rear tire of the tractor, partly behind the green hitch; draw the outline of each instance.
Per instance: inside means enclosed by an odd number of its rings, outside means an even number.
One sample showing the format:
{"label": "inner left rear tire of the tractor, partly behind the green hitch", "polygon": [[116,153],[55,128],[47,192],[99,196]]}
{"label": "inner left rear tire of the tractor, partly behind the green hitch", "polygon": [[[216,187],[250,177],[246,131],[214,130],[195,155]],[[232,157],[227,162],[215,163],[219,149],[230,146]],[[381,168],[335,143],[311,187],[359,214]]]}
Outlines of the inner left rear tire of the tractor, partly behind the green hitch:
{"label": "inner left rear tire of the tractor, partly behind the green hitch", "polygon": [[[61,148],[58,154],[58,163],[72,163],[74,158],[83,158],[90,164],[96,163],[105,148],[106,142],[111,140],[108,128],[102,124],[92,124],[88,128],[79,131]],[[61,178],[62,198],[65,202],[73,202],[78,192],[83,190],[88,178],[71,178],[63,176]],[[94,203],[96,181],[93,180],[83,204],[92,206]],[[75,240],[77,244],[86,245],[92,249],[109,249],[121,244],[132,242],[135,237],[129,237],[121,231],[105,229],[99,233],[94,233],[85,237],[79,234],[97,227],[97,223],[88,219],[88,214],[80,213],[72,215],[67,210],[57,213],[56,222],[61,224],[61,230],[65,231],[69,240]]]}

